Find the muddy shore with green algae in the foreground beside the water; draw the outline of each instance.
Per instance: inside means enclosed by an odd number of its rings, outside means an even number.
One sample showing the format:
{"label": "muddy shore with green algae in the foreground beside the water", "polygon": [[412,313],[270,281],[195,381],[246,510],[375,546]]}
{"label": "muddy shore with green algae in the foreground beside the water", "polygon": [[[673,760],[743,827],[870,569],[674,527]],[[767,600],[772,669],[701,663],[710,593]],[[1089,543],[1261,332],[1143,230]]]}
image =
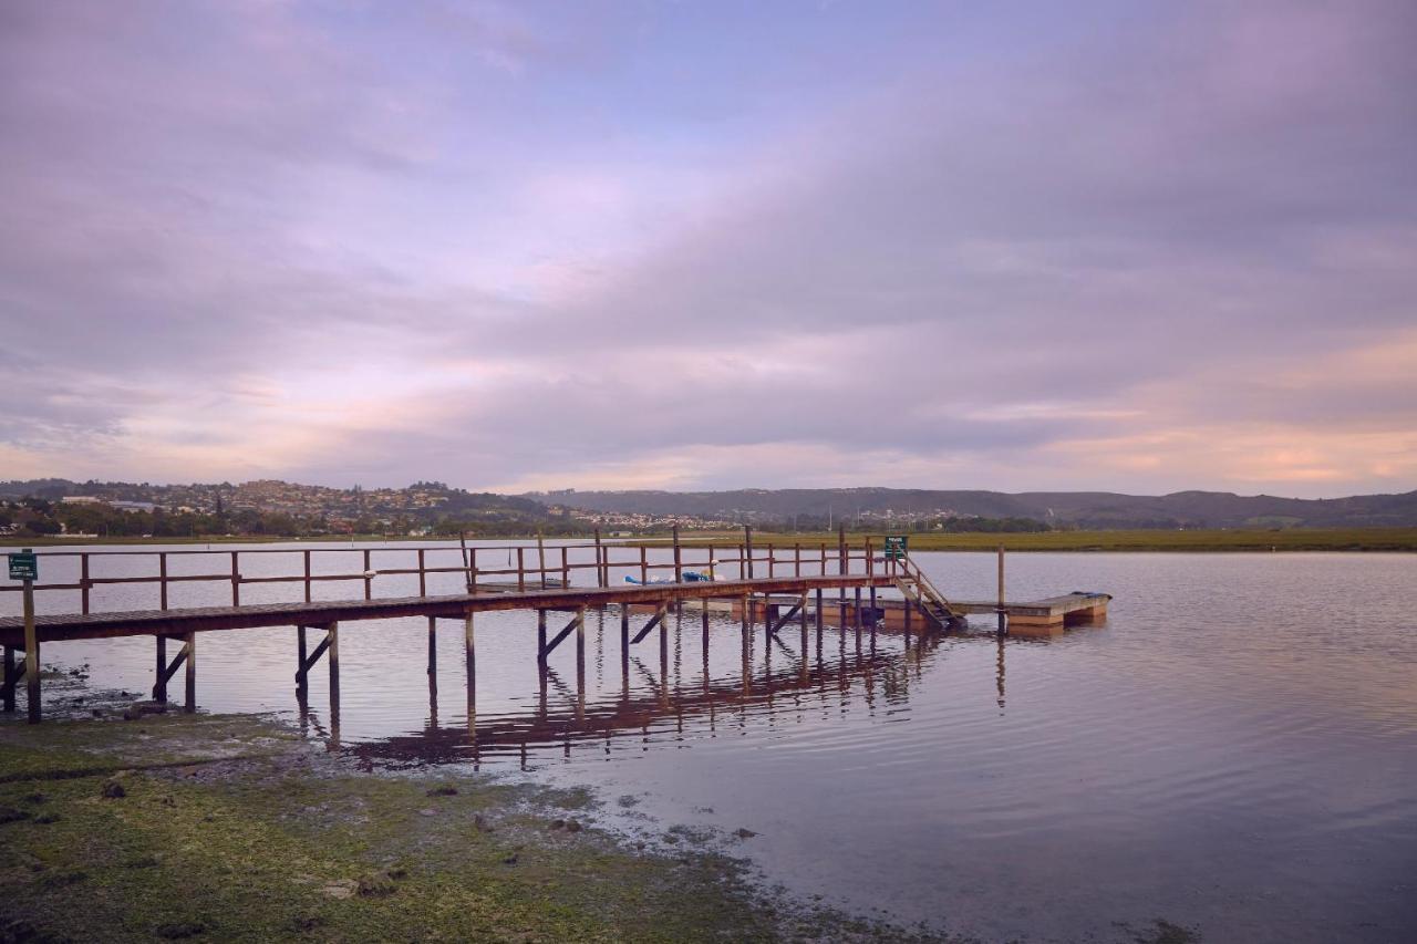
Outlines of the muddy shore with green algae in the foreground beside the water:
{"label": "muddy shore with green algae in the foreground beside the water", "polygon": [[72,707],[0,723],[3,941],[944,940],[764,892],[708,848],[636,848],[587,791],[376,770],[254,716]]}

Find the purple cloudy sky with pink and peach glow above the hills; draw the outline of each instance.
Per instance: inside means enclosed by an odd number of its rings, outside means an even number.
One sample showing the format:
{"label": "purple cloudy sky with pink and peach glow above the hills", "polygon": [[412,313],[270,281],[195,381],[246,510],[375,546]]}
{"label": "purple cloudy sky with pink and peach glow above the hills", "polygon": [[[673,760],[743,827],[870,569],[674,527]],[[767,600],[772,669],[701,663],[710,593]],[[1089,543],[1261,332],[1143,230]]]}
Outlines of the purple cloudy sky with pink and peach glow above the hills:
{"label": "purple cloudy sky with pink and peach glow above the hills", "polygon": [[0,3],[0,479],[1417,489],[1417,4]]}

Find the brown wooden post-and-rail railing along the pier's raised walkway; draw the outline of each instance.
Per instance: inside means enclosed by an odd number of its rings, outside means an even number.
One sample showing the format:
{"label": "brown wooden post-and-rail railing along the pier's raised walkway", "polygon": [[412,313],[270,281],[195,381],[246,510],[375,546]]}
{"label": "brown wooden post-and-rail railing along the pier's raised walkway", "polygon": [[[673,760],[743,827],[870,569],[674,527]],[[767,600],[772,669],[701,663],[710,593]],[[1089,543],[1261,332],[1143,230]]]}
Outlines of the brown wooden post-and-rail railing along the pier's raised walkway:
{"label": "brown wooden post-and-rail railing along the pier's raised walkway", "polygon": [[[456,590],[446,585],[446,578],[439,592],[483,592],[497,590],[538,590],[563,587],[609,587],[611,573],[618,571],[621,580],[625,575],[640,583],[677,583],[686,573],[703,574],[710,580],[754,580],[779,577],[815,577],[815,575],[890,575],[903,566],[893,557],[879,557],[879,547],[867,539],[864,546],[852,547],[845,543],[768,543],[754,546],[751,534],[737,547],[686,547],[679,541],[677,533],[673,543],[657,544],[653,549],[643,544],[621,544],[595,540],[594,543],[554,543],[538,541],[536,544],[394,544],[388,547],[258,547],[242,550],[217,549],[177,549],[177,550],[47,550],[38,551],[40,575],[54,573],[55,566],[45,566],[48,561],[74,561],[61,566],[68,571],[58,580],[35,583],[34,590],[44,594],[77,592],[77,612],[106,612],[112,607],[105,605],[108,587],[119,585],[152,585],[156,588],[156,604],[159,609],[170,608],[170,590],[187,584],[227,584],[230,585],[230,602],[234,607],[242,604],[242,587],[262,584],[299,584],[303,588],[303,598],[310,602],[315,597],[315,587],[327,583],[356,583],[363,585],[363,598],[376,600],[383,597],[412,595],[411,580],[400,581],[402,588],[397,594],[385,591],[391,581],[380,580],[390,577],[417,578],[417,595],[429,595],[429,583],[439,583],[439,575],[462,574],[462,581]],[[299,556],[299,566],[289,568],[293,573],[265,573],[268,567],[261,567],[254,561],[269,560],[266,556],[283,554],[286,557]],[[663,560],[669,556],[669,560]],[[346,561],[353,557],[354,567],[347,567]],[[395,558],[397,560],[391,560]],[[452,558],[451,563],[446,563]],[[150,558],[149,573],[142,574],[111,574],[115,570],[112,561],[135,558]],[[190,567],[173,567],[177,561],[200,560],[211,561],[213,567],[198,568],[201,573],[187,573]],[[326,566],[327,561],[337,561],[336,568]],[[108,566],[105,566],[108,564]],[[391,566],[393,564],[393,566]],[[129,567],[130,570],[130,567]],[[666,571],[669,580],[665,580]],[[588,580],[587,580],[588,577]],[[23,587],[18,583],[0,584],[0,592],[18,592]],[[203,605],[213,605],[207,600]],[[254,601],[248,601],[254,602]],[[265,601],[262,601],[265,602]],[[52,608],[48,608],[52,611]],[[72,611],[71,611],[72,612]]]}

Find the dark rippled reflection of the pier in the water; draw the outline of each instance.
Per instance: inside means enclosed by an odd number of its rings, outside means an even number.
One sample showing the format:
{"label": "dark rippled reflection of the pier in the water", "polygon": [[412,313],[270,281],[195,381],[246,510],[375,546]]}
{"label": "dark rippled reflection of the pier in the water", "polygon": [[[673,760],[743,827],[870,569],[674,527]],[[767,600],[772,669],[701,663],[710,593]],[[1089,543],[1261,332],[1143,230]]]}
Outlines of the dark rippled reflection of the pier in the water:
{"label": "dark rippled reflection of the pier in the water", "polygon": [[[750,723],[771,727],[775,714],[798,714],[812,706],[846,713],[859,704],[873,714],[881,703],[901,704],[927,665],[924,656],[945,639],[898,628],[816,625],[806,617],[795,622],[768,632],[764,624],[748,619],[670,614],[653,631],[653,645],[622,648],[614,631],[618,611],[592,612],[585,642],[591,652],[572,649],[561,665],[538,665],[534,693],[504,700],[517,707],[482,716],[475,672],[459,679],[466,704],[455,716],[439,714],[436,641],[431,638],[422,729],[344,743],[337,683],[323,706],[312,704],[309,696],[299,699],[300,729],[324,738],[332,750],[376,764],[480,768],[512,763],[526,768],[585,748],[609,758],[619,750],[645,751],[665,741],[741,734]],[[1005,641],[995,645],[1002,709]],[[589,678],[588,659],[594,662]],[[446,692],[448,679],[442,685]]]}

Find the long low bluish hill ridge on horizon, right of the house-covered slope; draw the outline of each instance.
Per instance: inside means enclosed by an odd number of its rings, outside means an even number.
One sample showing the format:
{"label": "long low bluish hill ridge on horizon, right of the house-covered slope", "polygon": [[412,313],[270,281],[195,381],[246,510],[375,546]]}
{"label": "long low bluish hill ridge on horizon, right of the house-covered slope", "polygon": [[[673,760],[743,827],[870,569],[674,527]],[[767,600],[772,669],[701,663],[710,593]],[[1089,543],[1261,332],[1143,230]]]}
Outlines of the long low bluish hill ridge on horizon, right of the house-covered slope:
{"label": "long low bluish hill ridge on horizon, right of the house-covered slope", "polygon": [[[1231,492],[1119,495],[928,489],[741,489],[735,492],[548,492],[526,498],[587,512],[691,515],[731,522],[847,524],[863,519],[1034,519],[1054,527],[1414,527],[1417,492],[1288,499]],[[808,519],[808,520],[802,520]]]}

